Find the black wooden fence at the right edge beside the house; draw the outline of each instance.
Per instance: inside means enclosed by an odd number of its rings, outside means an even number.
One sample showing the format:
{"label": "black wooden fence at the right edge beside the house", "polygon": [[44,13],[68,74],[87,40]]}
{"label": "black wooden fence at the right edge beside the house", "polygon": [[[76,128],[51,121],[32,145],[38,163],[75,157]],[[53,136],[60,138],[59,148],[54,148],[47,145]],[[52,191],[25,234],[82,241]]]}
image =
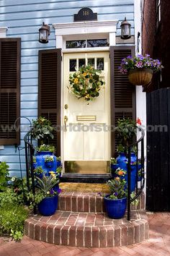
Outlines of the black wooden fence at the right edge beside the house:
{"label": "black wooden fence at the right edge beside the house", "polygon": [[170,88],[146,97],[146,210],[170,211]]}

